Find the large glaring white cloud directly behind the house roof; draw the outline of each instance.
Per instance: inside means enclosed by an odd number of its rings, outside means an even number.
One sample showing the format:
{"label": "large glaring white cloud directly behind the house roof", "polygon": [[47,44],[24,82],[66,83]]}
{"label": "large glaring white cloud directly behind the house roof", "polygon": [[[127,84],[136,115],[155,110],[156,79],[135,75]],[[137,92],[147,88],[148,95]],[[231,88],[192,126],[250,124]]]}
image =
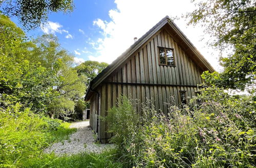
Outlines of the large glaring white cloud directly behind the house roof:
{"label": "large glaring white cloud directly behind the house roof", "polygon": [[[195,9],[195,6],[189,0],[159,0],[157,2],[116,0],[115,3],[117,9],[109,11],[111,21],[107,22],[100,18],[93,21],[93,25],[98,26],[99,32],[102,32],[103,38],[101,40],[88,39],[87,43],[97,50],[94,55],[99,55],[98,57],[90,55],[90,60],[111,63],[134,43],[134,37],[140,38],[166,15],[170,17],[181,16]],[[203,28],[200,26],[187,27],[187,21],[184,18],[174,22],[211,65],[216,68],[218,54],[216,50],[206,46],[206,41],[210,37],[204,34]],[[205,37],[205,40],[200,41],[202,37]],[[214,55],[211,53],[214,53]]]}

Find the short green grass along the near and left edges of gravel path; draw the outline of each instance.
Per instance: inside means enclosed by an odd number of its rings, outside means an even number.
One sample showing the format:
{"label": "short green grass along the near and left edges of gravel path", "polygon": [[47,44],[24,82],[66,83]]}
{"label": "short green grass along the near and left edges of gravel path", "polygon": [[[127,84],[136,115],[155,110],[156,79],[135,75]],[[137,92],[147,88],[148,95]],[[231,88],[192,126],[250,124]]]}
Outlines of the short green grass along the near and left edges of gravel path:
{"label": "short green grass along the near and left edges of gravel path", "polygon": [[[45,144],[44,147],[35,149],[36,144],[33,144],[31,146],[33,152],[24,151],[23,156],[18,158],[17,163],[9,165],[14,167],[123,167],[121,162],[116,161],[118,159],[115,149],[100,154],[80,153],[71,156],[44,153],[44,149],[51,144],[69,139],[69,135],[76,131],[76,128],[69,128],[69,126],[70,123],[61,122],[57,130],[41,132],[45,137],[42,138],[42,141],[45,142],[41,141],[40,143]],[[39,132],[35,133],[38,134]]]}

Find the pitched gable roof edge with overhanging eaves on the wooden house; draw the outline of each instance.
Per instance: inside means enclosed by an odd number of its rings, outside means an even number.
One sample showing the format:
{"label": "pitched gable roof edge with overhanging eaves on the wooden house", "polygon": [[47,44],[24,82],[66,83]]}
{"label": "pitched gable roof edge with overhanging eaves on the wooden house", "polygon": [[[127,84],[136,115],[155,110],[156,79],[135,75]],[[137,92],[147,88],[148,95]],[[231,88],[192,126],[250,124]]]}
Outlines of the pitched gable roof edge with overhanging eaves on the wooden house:
{"label": "pitched gable roof edge with overhanging eaves on the wooden house", "polygon": [[183,49],[189,52],[190,58],[197,62],[197,65],[202,70],[214,72],[214,68],[209,62],[203,57],[203,55],[196,49],[196,47],[187,39],[187,37],[181,32],[178,26],[168,17],[165,16],[160,20],[151,30],[146,32],[141,38],[139,38],[133,45],[126,49],[115,61],[112,62],[108,67],[102,70],[91,82],[87,89],[84,100],[88,99],[90,91],[94,90],[106,77],[108,77],[116,68],[130,58],[137,49],[139,49],[148,39],[156,34],[160,29],[165,28],[170,35],[174,35],[174,38],[181,44]]}

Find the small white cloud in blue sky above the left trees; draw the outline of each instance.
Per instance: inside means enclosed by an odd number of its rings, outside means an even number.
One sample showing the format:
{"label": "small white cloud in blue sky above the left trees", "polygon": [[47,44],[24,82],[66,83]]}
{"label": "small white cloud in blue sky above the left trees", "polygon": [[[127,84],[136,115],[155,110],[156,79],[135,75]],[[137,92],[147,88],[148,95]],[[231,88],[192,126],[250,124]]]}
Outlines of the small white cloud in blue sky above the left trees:
{"label": "small white cloud in blue sky above the left trees", "polygon": [[69,31],[62,29],[62,27],[63,26],[58,22],[48,21],[47,23],[41,25],[41,30],[46,34],[54,34],[54,35],[55,33],[60,33],[60,34],[66,33],[67,35],[65,36],[65,38],[73,39],[73,36],[69,34]]}

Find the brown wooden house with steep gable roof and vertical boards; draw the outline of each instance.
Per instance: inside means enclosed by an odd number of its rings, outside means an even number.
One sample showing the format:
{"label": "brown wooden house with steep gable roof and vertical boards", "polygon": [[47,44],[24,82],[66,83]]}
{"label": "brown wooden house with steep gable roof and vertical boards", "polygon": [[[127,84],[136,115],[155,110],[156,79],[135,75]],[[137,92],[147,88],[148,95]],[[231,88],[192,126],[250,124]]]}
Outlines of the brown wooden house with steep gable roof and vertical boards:
{"label": "brown wooden house with steep gable roof and vertical boards", "polygon": [[98,116],[108,115],[120,95],[140,102],[151,99],[166,114],[164,102],[174,96],[177,105],[186,103],[196,94],[197,85],[203,82],[200,75],[206,70],[214,72],[166,16],[91,81],[85,97],[91,103],[90,125],[105,143],[110,134]]}

